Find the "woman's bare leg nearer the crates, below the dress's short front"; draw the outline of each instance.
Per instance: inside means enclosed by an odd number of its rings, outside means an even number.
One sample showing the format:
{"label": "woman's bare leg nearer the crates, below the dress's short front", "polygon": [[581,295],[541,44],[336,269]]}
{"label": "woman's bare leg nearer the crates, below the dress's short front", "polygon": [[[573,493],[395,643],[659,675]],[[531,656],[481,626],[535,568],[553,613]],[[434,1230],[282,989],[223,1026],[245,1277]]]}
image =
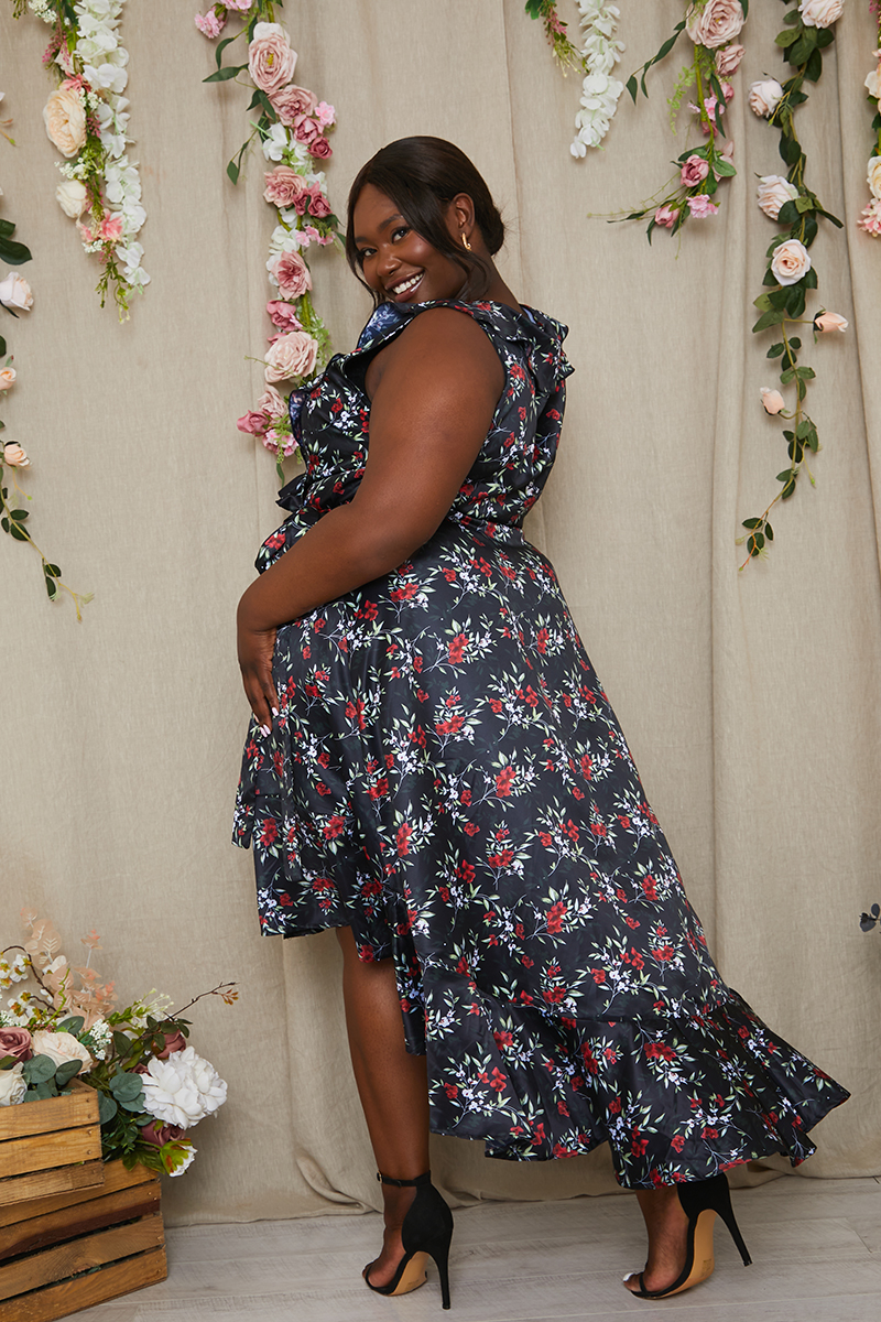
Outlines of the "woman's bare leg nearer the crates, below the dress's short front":
{"label": "woman's bare leg nearer the crates, below the dress's short front", "polygon": [[[391,960],[358,958],[351,928],[337,928],[343,954],[342,993],[351,1067],[358,1084],[376,1169],[392,1179],[415,1179],[428,1170],[428,1080],[425,1056],[404,1047],[400,999]],[[404,1248],[400,1227],[415,1188],[383,1185],[383,1251],[370,1264],[372,1285],[386,1285]]]}

